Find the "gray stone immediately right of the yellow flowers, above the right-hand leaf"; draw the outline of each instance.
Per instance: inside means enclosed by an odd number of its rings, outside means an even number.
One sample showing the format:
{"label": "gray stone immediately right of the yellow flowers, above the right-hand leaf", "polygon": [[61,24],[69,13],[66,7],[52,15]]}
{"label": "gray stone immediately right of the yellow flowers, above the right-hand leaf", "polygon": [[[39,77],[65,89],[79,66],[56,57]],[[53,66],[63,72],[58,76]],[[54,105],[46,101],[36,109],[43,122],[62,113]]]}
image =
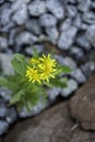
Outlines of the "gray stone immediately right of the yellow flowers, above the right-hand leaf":
{"label": "gray stone immediately right of the yellow flowers, above the right-hand leaf", "polygon": [[70,57],[63,59],[63,64],[70,67],[72,70],[76,69],[76,62]]}

